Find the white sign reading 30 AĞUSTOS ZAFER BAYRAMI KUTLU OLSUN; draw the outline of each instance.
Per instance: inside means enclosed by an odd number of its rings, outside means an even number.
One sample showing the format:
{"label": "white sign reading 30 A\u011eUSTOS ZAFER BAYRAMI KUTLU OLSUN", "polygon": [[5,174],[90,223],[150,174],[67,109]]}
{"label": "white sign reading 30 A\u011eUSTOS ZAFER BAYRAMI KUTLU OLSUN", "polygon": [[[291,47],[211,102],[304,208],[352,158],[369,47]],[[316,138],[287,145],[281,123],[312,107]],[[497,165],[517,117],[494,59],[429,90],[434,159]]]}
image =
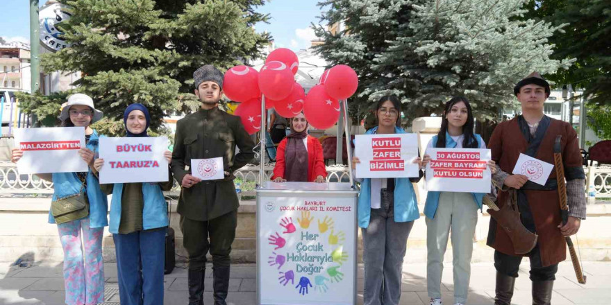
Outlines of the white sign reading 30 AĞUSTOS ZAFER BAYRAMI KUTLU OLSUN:
{"label": "white sign reading 30 A\u011eUSTOS ZAFER BAYRAMI KUTLU OLSUN", "polygon": [[489,193],[489,149],[427,148],[426,189],[462,193]]}

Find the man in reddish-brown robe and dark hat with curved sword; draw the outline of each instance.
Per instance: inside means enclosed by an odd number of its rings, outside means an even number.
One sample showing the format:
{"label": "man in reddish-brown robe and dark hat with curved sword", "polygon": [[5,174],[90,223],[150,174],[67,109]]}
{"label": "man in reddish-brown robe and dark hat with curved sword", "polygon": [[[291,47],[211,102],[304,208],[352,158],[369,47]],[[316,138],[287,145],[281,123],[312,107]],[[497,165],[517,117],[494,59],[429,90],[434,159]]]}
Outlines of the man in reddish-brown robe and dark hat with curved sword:
{"label": "man in reddish-brown robe and dark hat with curved sword", "polygon": [[[550,95],[549,83],[533,72],[517,83],[514,94],[521,103],[522,114],[500,123],[494,129],[488,148],[499,167],[492,175],[501,187],[497,205],[502,208],[517,192],[517,207],[521,223],[538,240],[527,254],[516,254],[510,238],[500,225],[490,218],[487,244],[495,249],[496,297],[494,304],[509,305],[515,278],[523,256],[530,259],[530,280],[533,282],[533,304],[550,304],[558,263],[567,256],[564,236],[576,234],[585,219],[585,175],[579,151],[577,133],[564,121],[551,119],[543,113],[543,104]],[[567,180],[568,221],[562,225],[560,196],[555,170],[544,186],[528,181],[525,175],[512,175],[521,153],[554,164],[555,139],[561,136],[560,152]]]}

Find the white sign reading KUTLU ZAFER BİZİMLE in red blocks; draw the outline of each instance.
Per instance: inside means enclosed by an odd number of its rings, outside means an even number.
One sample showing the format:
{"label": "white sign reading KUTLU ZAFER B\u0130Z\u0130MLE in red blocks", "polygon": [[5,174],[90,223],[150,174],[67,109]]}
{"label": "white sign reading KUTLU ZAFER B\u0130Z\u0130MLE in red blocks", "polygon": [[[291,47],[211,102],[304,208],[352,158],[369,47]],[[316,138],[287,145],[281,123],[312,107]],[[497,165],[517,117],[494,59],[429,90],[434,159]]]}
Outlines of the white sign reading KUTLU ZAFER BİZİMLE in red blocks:
{"label": "white sign reading KUTLU ZAFER B\u0130Z\u0130MLE in red blocks", "polygon": [[416,134],[358,134],[354,155],[358,178],[418,177]]}

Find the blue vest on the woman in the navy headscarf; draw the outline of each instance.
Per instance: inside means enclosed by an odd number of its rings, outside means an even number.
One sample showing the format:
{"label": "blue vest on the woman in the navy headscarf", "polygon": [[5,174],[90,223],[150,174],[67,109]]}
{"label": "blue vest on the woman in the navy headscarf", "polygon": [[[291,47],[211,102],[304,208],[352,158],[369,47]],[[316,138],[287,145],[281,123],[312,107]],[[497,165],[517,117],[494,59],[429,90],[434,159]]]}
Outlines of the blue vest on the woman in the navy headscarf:
{"label": "blue vest on the woman in the navy headscarf", "polygon": [[[144,209],[142,210],[143,229],[167,227],[167,205],[161,186],[157,182],[142,183]],[[115,183],[112,187],[112,202],[110,202],[110,227],[112,234],[119,233],[121,223],[121,200],[123,198],[123,184]]]}

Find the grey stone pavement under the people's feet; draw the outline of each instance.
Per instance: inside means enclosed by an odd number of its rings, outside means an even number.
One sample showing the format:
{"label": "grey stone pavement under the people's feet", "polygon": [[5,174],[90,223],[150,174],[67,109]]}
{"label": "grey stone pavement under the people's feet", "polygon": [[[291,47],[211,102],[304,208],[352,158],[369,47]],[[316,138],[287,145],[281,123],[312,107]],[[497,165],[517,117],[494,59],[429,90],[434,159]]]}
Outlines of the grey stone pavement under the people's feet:
{"label": "grey stone pavement under the people's feet", "polygon": [[[516,282],[516,291],[512,304],[530,305],[530,281],[528,279],[528,261],[524,260],[523,268]],[[179,263],[184,267],[183,263]],[[446,263],[443,276],[444,304],[453,304],[453,285],[451,263]],[[117,266],[115,263],[104,264],[106,276],[106,303],[119,304],[117,293]],[[555,281],[552,304],[611,304],[611,263],[586,262],[587,285],[577,284],[570,262],[560,264],[558,279]],[[206,269],[205,304],[212,304],[212,272]],[[362,304],[362,265],[359,266],[359,304]],[[275,280],[275,279],[274,279]],[[233,265],[229,284],[228,302],[237,305],[256,304],[256,266],[253,264]],[[426,264],[409,263],[403,265],[403,293],[401,304],[428,305],[426,295]],[[469,305],[494,304],[494,267],[492,263],[474,263],[471,267],[471,292]],[[64,304],[64,284],[62,263],[35,263],[32,267],[15,267],[10,263],[0,263],[0,304]],[[166,305],[187,304],[187,272],[176,268],[165,277]]]}

